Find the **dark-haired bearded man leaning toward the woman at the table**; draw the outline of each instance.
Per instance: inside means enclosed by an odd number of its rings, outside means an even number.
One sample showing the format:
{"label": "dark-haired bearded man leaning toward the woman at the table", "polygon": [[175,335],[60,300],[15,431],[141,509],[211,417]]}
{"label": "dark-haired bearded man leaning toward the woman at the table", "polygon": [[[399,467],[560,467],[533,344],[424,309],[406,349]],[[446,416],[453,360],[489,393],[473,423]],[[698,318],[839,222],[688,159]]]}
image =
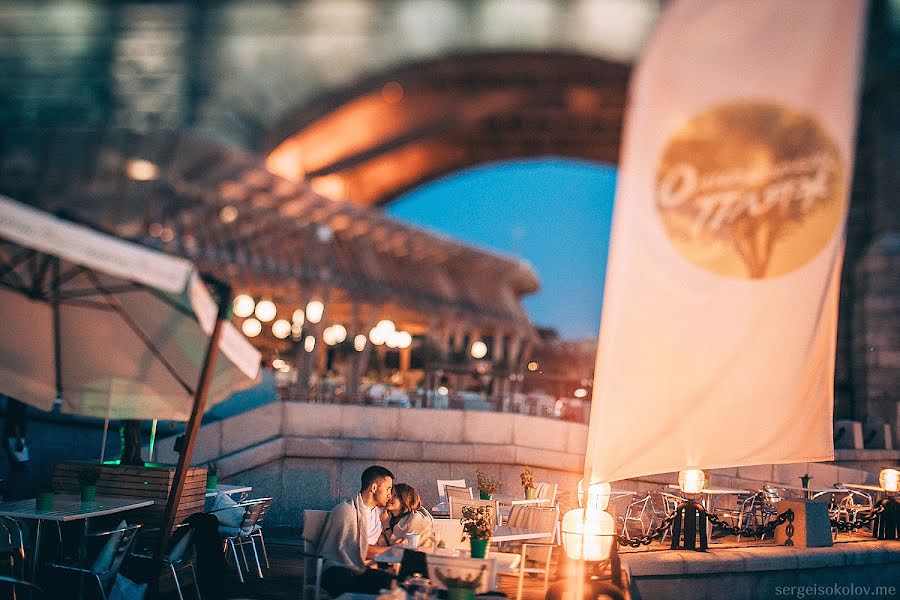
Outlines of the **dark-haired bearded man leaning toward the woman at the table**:
{"label": "dark-haired bearded man leaning toward the woman at the table", "polygon": [[394,576],[366,568],[366,560],[384,547],[375,546],[383,530],[381,513],[391,499],[394,474],[373,465],[360,477],[359,493],[334,507],[319,537],[325,559],[322,587],[332,598],[344,592],[377,594]]}

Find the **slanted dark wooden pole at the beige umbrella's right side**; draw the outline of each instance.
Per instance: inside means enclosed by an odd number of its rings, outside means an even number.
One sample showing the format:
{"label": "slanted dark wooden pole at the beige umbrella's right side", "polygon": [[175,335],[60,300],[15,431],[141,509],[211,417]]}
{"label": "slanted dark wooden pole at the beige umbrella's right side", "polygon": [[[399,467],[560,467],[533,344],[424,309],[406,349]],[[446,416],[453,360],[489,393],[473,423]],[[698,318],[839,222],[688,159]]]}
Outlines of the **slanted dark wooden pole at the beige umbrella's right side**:
{"label": "slanted dark wooden pole at the beige umbrella's right side", "polygon": [[163,517],[163,527],[159,536],[159,545],[153,555],[152,579],[150,580],[150,598],[156,597],[159,586],[159,577],[162,573],[162,557],[169,546],[172,536],[172,528],[175,526],[175,515],[178,505],[181,503],[181,492],[184,489],[184,480],[187,478],[187,470],[191,466],[191,456],[194,453],[194,443],[197,440],[197,432],[200,430],[200,421],[203,419],[203,410],[206,407],[206,394],[212,381],[216,355],[219,350],[219,338],[222,336],[222,323],[227,318],[228,307],[231,304],[231,287],[212,278],[204,278],[211,284],[218,296],[218,312],[216,323],[213,326],[212,335],[209,338],[209,346],[206,349],[206,358],[203,360],[203,368],[200,371],[200,381],[194,394],[194,407],[191,409],[191,418],[184,432],[182,449],[178,455],[178,465],[175,467],[175,478],[169,490],[169,499],[166,502],[166,511]]}

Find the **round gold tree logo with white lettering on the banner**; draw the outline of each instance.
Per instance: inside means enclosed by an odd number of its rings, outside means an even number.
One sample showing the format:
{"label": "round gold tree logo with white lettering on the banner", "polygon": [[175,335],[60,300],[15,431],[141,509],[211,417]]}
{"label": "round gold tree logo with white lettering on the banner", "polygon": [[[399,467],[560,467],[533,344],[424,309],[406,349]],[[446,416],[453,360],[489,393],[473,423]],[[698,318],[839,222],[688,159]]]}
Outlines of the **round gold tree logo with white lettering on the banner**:
{"label": "round gold tree logo with white lettering on the banner", "polygon": [[831,240],[844,214],[844,170],[813,117],[767,102],[723,104],[669,138],[655,206],[690,262],[738,279],[778,277]]}

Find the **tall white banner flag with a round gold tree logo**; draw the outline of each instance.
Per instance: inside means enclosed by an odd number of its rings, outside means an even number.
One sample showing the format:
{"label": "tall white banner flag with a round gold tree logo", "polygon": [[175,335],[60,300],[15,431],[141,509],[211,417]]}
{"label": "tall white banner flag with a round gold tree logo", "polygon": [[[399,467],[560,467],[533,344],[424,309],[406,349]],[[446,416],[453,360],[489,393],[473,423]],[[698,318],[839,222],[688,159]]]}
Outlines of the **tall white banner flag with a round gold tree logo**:
{"label": "tall white banner flag with a round gold tree logo", "polygon": [[677,0],[631,82],[586,476],[831,460],[866,5]]}

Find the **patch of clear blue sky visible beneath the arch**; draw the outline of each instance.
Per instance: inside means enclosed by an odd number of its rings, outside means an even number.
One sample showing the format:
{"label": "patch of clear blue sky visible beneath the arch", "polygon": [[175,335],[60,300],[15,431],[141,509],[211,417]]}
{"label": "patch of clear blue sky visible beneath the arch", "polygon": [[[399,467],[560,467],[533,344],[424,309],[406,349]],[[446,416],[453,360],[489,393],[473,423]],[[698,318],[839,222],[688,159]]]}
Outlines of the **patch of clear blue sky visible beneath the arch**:
{"label": "patch of clear blue sky visible beneath the arch", "polygon": [[541,281],[525,308],[565,339],[596,337],[615,168],[565,159],[484,165],[390,204],[398,219],[524,258]]}

